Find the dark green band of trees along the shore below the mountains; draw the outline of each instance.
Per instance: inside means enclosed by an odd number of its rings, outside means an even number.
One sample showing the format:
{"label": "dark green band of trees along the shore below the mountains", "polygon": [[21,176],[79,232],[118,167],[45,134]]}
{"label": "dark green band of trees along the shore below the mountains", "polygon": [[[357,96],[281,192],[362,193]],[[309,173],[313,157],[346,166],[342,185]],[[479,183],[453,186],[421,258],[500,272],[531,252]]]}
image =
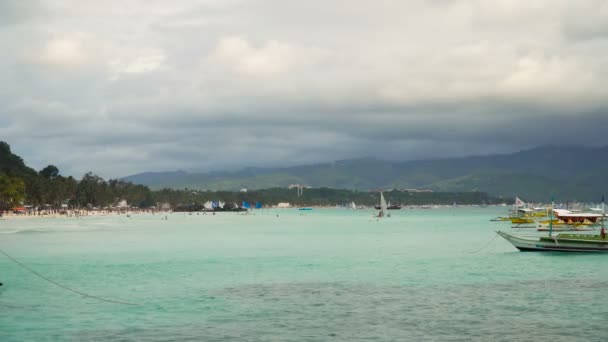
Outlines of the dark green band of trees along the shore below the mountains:
{"label": "dark green band of trees along the shore below the mountains", "polygon": [[[385,192],[387,201],[401,205],[496,204],[503,199],[483,192]],[[207,201],[274,205],[289,202],[294,206],[335,206],[355,202],[375,205],[378,193],[346,189],[310,188],[298,196],[297,189],[270,188],[248,192],[204,191],[194,189],[161,189],[152,191],[145,185],[123,180],[105,180],[88,172],[80,180],[62,176],[54,165],[40,171],[28,167],[23,159],[11,152],[9,144],[0,141],[0,210],[23,204],[45,209],[106,208],[126,201],[130,206],[150,208],[158,205],[170,208],[197,209]]]}

